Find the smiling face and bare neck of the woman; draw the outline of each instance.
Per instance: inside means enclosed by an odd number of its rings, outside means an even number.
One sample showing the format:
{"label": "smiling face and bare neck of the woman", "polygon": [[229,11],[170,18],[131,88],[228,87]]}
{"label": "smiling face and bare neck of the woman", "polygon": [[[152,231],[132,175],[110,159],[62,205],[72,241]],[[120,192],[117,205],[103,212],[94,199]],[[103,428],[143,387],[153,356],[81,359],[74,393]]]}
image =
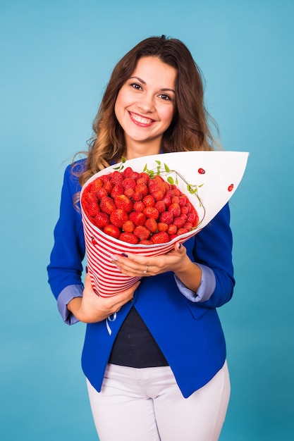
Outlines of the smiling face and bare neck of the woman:
{"label": "smiling face and bare neck of the woman", "polygon": [[142,57],[118,92],[114,111],[125,132],[127,159],[159,153],[176,109],[176,75],[159,58]]}

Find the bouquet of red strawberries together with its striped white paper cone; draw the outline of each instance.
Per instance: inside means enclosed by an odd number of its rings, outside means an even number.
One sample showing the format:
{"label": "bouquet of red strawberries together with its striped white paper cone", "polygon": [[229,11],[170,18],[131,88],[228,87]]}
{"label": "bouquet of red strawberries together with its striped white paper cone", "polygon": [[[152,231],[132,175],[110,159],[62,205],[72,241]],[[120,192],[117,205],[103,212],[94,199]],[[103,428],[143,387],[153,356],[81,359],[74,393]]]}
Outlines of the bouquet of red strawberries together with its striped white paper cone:
{"label": "bouquet of red strawberries together with its striped white paper cone", "polygon": [[80,205],[94,291],[107,297],[140,279],[121,273],[114,254],[165,254],[204,228],[238,187],[247,156],[184,151],[123,159],[85,182]]}

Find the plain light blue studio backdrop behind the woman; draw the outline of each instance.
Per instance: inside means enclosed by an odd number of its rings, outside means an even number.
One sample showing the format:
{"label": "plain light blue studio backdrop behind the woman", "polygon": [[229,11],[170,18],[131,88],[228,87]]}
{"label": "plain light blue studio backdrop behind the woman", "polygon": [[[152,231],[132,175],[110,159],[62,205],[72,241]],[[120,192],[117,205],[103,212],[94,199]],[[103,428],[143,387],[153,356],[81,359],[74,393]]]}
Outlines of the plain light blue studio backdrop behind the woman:
{"label": "plain light blue studio backdrop behind the woman", "polygon": [[86,148],[115,63],[151,35],[188,45],[226,150],[250,151],[231,201],[237,284],[220,311],[232,395],[221,440],[294,437],[294,4],[1,0],[0,437],[97,439],[46,266],[63,170]]}

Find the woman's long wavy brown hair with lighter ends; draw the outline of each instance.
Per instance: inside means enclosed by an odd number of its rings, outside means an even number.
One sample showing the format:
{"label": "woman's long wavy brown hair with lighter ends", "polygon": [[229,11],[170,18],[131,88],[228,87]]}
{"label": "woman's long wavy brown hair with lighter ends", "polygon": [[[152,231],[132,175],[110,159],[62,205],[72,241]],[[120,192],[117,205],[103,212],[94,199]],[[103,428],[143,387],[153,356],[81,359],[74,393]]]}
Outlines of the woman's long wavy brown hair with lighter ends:
{"label": "woman's long wavy brown hair with lighter ends", "polygon": [[159,58],[176,68],[176,112],[169,128],[164,132],[161,149],[171,151],[214,150],[209,129],[216,123],[204,106],[202,73],[188,48],[178,39],[149,37],[131,49],[116,64],[106,87],[97,116],[93,122],[93,136],[89,141],[85,169],[80,173],[80,185],[92,175],[121,161],[125,151],[124,133],[116,119],[114,106],[119,90],[132,76],[137,61],[146,56]]}

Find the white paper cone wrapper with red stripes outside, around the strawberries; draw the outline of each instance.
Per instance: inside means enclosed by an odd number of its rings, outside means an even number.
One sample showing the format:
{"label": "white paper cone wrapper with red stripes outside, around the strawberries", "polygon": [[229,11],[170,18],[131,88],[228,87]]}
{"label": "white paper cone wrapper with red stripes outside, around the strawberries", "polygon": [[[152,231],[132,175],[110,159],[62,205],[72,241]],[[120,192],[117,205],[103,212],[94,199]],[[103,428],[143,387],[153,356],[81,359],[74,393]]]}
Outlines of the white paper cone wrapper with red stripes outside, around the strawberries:
{"label": "white paper cone wrapper with red stripes outside, around the strawberries", "polygon": [[[82,209],[87,264],[94,291],[102,297],[108,297],[125,290],[140,279],[122,274],[114,263],[111,263],[111,255],[137,253],[144,256],[157,256],[165,254],[173,249],[174,242],[185,242],[202,230],[233,196],[243,178],[247,158],[248,153],[243,151],[185,151],[143,156],[125,161],[123,170],[130,167],[137,172],[142,172],[147,165],[148,170],[159,168],[163,170],[161,176],[165,180],[172,177],[178,189],[186,194],[195,206],[200,223],[194,230],[166,244],[135,245],[106,235],[91,223]],[[165,173],[164,164],[168,170],[171,170],[171,173]],[[119,165],[105,168],[92,176],[83,185],[80,198],[82,199],[82,193],[90,182],[99,176],[114,172]],[[172,170],[176,170],[177,173]],[[187,183],[190,185],[189,189]],[[191,191],[195,189],[196,194],[191,194]]]}

